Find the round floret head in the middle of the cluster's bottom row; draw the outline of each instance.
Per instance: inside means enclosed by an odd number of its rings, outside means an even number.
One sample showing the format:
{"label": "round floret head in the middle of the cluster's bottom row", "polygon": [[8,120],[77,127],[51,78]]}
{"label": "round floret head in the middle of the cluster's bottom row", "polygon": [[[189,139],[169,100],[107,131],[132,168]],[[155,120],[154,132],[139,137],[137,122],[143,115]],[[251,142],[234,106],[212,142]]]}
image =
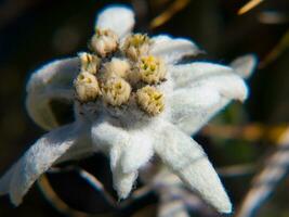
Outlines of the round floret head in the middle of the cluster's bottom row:
{"label": "round floret head in the middle of the cluster's bottom row", "polygon": [[119,106],[129,101],[131,86],[120,77],[110,77],[103,84],[102,93],[104,102]]}

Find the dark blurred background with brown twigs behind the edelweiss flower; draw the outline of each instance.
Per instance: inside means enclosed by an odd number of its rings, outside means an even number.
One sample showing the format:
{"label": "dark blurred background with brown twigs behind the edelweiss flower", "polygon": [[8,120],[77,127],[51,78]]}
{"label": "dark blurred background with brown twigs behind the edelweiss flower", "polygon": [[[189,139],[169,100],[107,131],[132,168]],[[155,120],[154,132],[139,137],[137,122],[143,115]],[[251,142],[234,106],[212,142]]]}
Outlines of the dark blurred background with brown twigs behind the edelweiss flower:
{"label": "dark blurred background with brown twigs behind the edelweiss flower", "polygon": [[[235,207],[232,216],[241,216],[248,204],[254,204],[252,200],[259,206],[242,217],[288,217],[289,141],[280,141],[289,122],[288,0],[0,0],[0,174],[44,132],[25,110],[30,73],[50,60],[87,50],[95,14],[111,3],[134,9],[136,31],[193,39],[206,51],[196,60],[228,64],[242,54],[258,56],[257,71],[248,80],[249,100],[232,103],[196,139],[228,191]],[[77,166],[95,175],[114,196],[105,157],[97,155]],[[265,188],[257,184],[260,177],[267,181]],[[78,170],[52,173],[45,180],[50,184],[42,183],[42,191],[35,184],[17,208],[2,196],[0,216],[156,215],[158,195],[154,192],[126,208],[116,208],[103,201]],[[52,203],[43,194],[43,189],[50,188],[57,194]],[[55,202],[58,196],[64,204]],[[218,216],[202,209],[193,207],[192,216]]]}

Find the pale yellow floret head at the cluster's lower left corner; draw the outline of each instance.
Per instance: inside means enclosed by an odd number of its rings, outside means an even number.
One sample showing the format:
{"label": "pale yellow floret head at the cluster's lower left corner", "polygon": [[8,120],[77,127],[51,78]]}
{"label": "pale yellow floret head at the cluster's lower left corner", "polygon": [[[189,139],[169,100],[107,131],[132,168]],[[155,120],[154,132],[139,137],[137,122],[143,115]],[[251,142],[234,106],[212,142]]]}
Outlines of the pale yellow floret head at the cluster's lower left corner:
{"label": "pale yellow floret head at the cluster's lower left corner", "polygon": [[89,72],[81,72],[74,85],[76,97],[80,102],[94,101],[101,94],[97,79]]}

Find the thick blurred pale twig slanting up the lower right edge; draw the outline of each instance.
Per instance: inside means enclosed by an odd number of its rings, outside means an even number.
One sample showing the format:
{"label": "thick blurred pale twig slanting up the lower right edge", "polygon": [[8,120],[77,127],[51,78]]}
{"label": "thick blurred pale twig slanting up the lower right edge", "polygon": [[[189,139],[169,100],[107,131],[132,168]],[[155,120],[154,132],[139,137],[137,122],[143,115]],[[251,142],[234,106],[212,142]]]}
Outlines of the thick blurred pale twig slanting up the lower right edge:
{"label": "thick blurred pale twig slanting up the lower right edge", "polygon": [[253,217],[286,176],[289,166],[289,128],[280,137],[278,150],[267,159],[263,170],[255,176],[245,196],[237,217]]}

